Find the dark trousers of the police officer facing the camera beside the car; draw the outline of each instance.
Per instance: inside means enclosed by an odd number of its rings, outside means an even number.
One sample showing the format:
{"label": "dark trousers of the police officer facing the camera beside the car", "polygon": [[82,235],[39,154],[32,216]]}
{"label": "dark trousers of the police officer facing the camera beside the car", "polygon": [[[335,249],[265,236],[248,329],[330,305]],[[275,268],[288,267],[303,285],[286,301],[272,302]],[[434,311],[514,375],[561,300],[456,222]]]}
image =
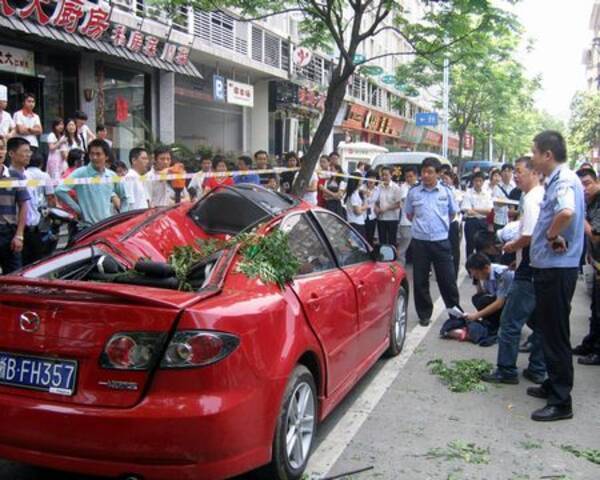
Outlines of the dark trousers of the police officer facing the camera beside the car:
{"label": "dark trousers of the police officer facing the camera beside the car", "polygon": [[413,290],[419,319],[429,319],[433,313],[433,302],[429,292],[429,272],[432,264],[446,308],[460,306],[450,242],[428,242],[413,238],[412,249]]}

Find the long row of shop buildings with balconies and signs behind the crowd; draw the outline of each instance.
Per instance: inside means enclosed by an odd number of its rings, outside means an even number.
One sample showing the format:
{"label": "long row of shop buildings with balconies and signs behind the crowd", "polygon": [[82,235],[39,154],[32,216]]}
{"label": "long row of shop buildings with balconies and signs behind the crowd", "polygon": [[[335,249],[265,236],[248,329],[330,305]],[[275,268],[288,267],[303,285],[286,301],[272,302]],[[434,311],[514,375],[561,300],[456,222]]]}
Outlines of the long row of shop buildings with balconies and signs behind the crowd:
{"label": "long row of shop buildings with balconies and signs behind the crowd", "polygon": [[[411,11],[418,14],[419,5]],[[4,0],[0,83],[11,112],[24,93],[36,94],[46,133],[54,119],[87,112],[92,129],[107,126],[124,160],[132,147],[159,141],[193,151],[306,151],[335,52],[301,52],[299,22],[294,14],[247,22],[233,12],[164,12],[144,0]],[[390,30],[359,54],[408,49]],[[441,149],[441,130],[415,124],[430,103],[396,83],[406,58],[383,57],[354,75],[326,151],[343,140]]]}

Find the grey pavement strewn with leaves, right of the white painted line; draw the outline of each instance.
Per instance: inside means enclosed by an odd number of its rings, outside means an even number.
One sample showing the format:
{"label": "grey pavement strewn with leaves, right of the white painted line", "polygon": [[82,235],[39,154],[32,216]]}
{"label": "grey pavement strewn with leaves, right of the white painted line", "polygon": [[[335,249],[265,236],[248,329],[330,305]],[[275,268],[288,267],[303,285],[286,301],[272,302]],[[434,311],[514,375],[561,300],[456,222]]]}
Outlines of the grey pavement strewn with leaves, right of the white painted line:
{"label": "grey pavement strewn with leaves, right of the white painted line", "polygon": [[[472,285],[461,285],[463,305]],[[576,345],[586,333],[589,297],[583,282],[573,299],[572,340]],[[413,317],[414,321],[414,317]],[[576,458],[561,445],[600,448],[600,367],[583,367],[575,361],[573,420],[538,423],[529,419],[543,401],[525,394],[532,386],[490,385],[486,392],[452,393],[429,373],[427,362],[479,358],[495,363],[497,347],[481,348],[438,337],[441,320],[427,334],[405,368],[371,412],[358,434],[338,459],[329,476],[374,467],[348,479],[407,480],[524,480],[600,478],[600,465]],[[384,360],[385,361],[385,360]],[[519,367],[526,355],[519,357]],[[369,388],[362,384],[359,388]],[[324,427],[327,428],[327,423]],[[447,460],[431,458],[432,449],[448,453],[450,442],[474,443],[487,449],[484,458]],[[462,448],[461,447],[461,448]],[[466,455],[468,448],[460,453]],[[485,458],[489,457],[489,458]],[[487,463],[486,463],[487,462]]]}

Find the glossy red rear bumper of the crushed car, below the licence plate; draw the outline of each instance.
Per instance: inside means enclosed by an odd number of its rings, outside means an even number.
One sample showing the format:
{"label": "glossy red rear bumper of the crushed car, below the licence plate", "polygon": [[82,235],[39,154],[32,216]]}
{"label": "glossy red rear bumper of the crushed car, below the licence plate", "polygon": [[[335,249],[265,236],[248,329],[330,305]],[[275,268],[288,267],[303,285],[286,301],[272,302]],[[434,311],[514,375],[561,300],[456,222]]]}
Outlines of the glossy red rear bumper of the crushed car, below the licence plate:
{"label": "glossy red rear bumper of the crushed car, below the licence plate", "polygon": [[222,479],[267,463],[280,382],[228,396],[148,396],[130,409],[0,395],[0,457],[109,477]]}

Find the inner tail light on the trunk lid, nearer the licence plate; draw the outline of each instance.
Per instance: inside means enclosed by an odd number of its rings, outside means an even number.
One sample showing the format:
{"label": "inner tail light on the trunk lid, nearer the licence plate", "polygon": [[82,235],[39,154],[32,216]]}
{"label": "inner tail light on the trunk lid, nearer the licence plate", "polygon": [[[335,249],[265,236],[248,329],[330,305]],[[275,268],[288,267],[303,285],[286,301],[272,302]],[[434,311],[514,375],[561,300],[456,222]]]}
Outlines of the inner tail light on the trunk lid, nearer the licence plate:
{"label": "inner tail light on the trunk lid, nearer the licence plate", "polygon": [[100,364],[118,370],[147,370],[160,354],[164,341],[163,333],[116,333],[106,343]]}

